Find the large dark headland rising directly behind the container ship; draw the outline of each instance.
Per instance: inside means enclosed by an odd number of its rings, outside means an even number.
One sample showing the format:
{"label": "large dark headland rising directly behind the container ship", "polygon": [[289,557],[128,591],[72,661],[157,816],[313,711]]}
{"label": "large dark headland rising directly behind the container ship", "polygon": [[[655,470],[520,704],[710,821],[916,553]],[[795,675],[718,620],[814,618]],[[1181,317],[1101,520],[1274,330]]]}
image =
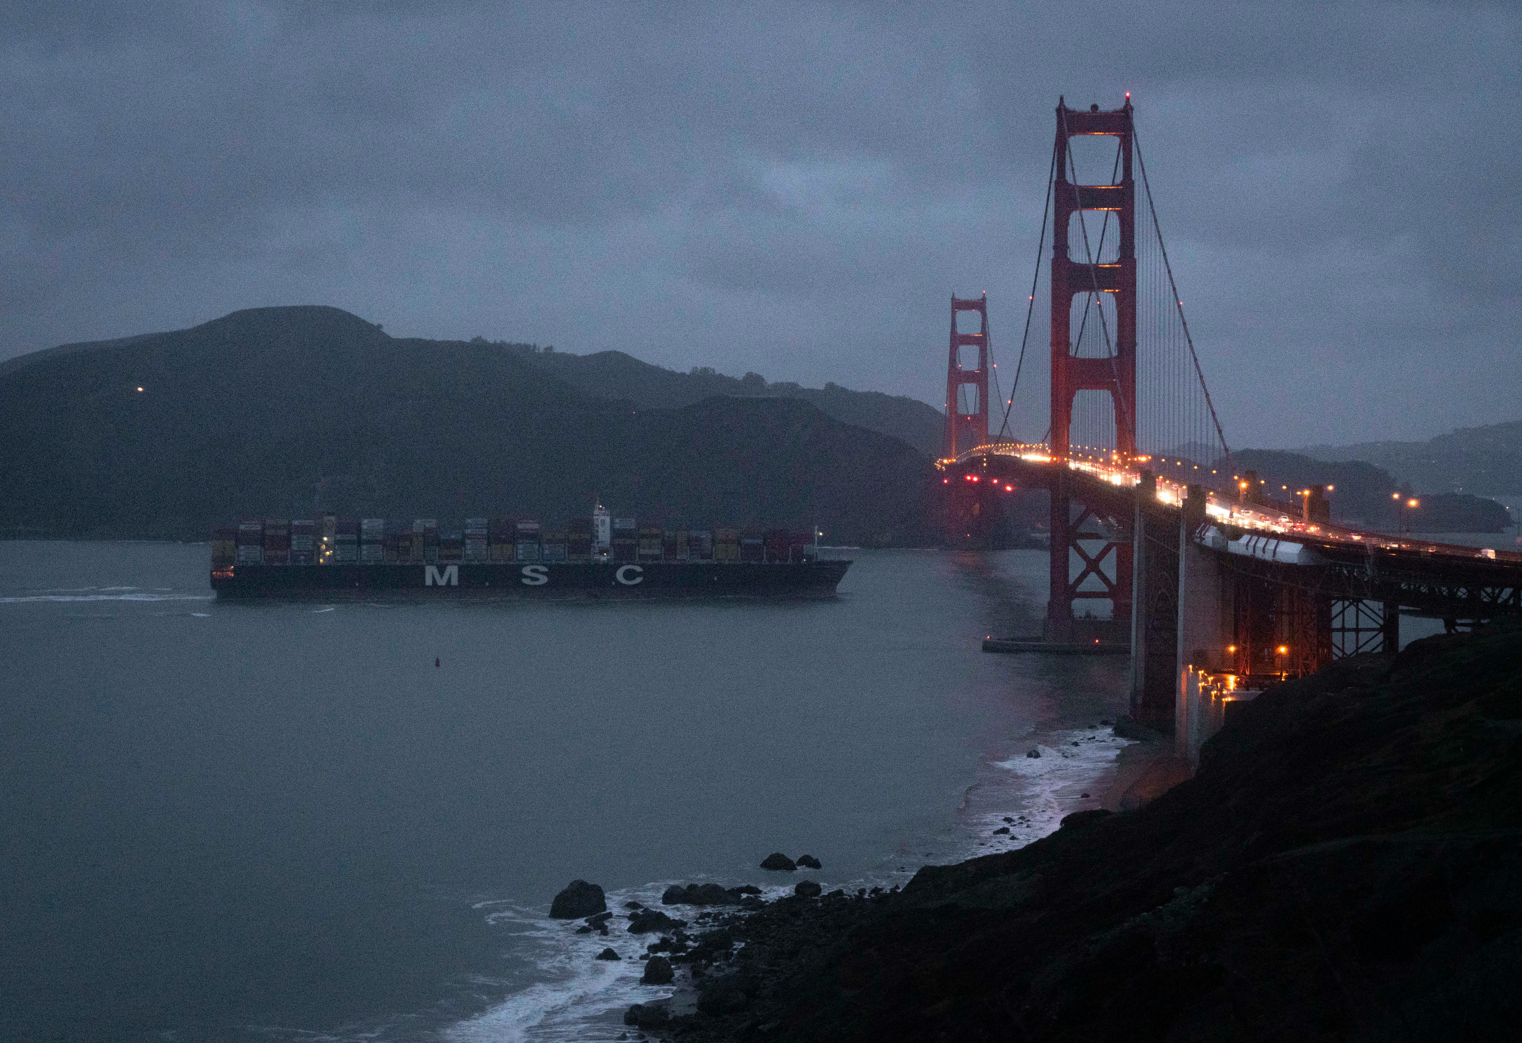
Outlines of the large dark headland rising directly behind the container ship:
{"label": "large dark headland rising directly behind the container ship", "polygon": [[598,495],[659,519],[918,542],[928,483],[915,451],[805,402],[635,408],[496,346],[397,340],[335,308],[242,311],[0,372],[12,531],[202,539],[318,510],[548,521]]}

